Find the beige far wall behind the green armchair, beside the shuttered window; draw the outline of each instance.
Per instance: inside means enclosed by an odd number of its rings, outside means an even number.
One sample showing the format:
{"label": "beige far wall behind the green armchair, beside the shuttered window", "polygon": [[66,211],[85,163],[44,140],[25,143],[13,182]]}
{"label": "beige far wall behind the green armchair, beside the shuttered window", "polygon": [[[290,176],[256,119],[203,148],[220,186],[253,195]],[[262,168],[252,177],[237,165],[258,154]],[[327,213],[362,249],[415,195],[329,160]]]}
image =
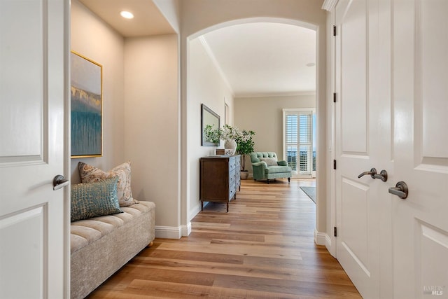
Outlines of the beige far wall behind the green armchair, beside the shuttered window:
{"label": "beige far wall behind the green armchair, beside the shuttered window", "polygon": [[[255,151],[274,151],[282,158],[283,110],[315,108],[316,95],[288,97],[241,97],[235,99],[235,125],[240,130],[253,130]],[[250,159],[246,169],[252,173]]]}

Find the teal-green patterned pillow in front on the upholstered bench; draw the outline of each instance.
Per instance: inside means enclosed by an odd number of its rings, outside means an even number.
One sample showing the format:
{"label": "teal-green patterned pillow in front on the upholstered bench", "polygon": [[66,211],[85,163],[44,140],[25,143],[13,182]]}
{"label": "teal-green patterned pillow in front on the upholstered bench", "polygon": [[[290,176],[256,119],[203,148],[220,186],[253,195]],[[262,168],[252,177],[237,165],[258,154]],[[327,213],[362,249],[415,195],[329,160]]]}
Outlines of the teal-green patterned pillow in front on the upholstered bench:
{"label": "teal-green patterned pillow in front on the upholstered bench", "polygon": [[123,213],[117,198],[118,177],[71,185],[71,222]]}

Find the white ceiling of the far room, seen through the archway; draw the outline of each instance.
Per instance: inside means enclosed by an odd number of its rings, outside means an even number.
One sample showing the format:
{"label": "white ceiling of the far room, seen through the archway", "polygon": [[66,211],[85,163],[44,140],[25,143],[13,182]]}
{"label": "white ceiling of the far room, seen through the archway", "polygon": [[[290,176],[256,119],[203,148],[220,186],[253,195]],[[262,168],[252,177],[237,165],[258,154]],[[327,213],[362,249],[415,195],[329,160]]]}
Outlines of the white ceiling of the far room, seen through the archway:
{"label": "white ceiling of the far room, seen through the archway", "polygon": [[295,25],[249,23],[204,34],[236,97],[316,90],[316,32]]}

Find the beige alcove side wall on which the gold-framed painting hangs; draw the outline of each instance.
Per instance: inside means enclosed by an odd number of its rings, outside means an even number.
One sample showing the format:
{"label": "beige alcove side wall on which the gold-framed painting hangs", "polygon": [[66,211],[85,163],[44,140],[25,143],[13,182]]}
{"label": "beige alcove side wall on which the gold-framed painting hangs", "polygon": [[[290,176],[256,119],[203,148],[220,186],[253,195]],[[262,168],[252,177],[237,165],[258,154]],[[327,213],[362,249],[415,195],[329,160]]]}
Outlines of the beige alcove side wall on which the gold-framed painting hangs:
{"label": "beige alcove side wall on which the gold-framed painting hangs", "polygon": [[125,162],[124,39],[78,0],[71,1],[71,50],[103,66],[103,156],[71,160],[71,183],[79,183],[78,162],[111,169]]}

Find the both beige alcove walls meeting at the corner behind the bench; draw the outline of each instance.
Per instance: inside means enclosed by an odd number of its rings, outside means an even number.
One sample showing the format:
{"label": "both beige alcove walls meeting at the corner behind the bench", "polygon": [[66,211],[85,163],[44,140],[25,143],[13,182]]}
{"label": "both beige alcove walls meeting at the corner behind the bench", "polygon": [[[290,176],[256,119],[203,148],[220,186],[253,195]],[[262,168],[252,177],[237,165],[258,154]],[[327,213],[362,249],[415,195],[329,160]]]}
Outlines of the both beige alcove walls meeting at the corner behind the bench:
{"label": "both beige alcove walls meeting at the corner behind the bench", "polygon": [[[179,43],[176,34],[123,39],[71,1],[71,48],[103,65],[103,156],[78,161],[111,169],[132,162],[132,193],[157,205],[156,229],[180,236]],[[125,67],[126,66],[126,67]]]}

